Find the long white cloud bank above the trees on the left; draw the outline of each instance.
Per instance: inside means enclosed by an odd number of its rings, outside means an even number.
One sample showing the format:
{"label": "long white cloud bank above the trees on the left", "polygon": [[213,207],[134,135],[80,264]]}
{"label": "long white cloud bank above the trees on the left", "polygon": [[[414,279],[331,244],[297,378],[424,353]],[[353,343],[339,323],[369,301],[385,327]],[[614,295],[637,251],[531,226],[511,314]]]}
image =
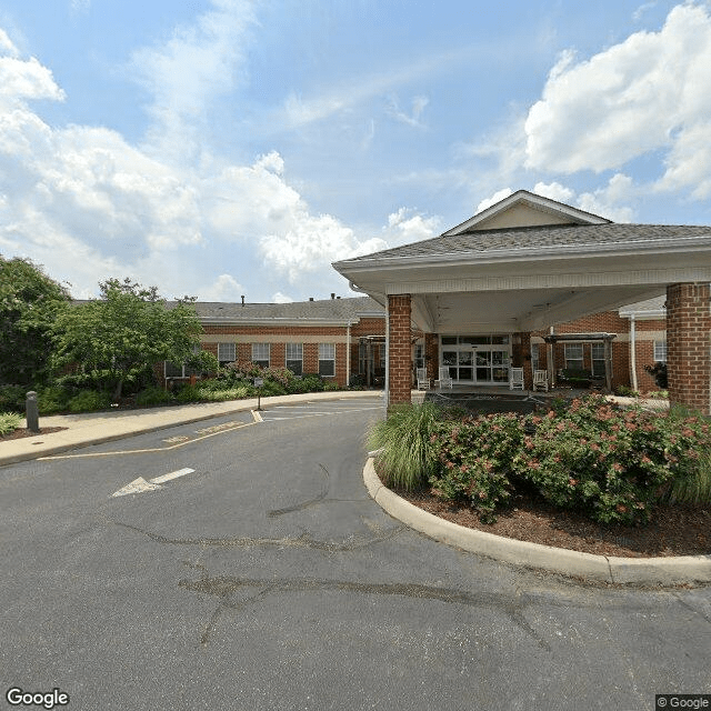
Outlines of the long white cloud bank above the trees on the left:
{"label": "long white cloud bank above the trees on the left", "polygon": [[0,249],[51,264],[74,293],[131,276],[167,293],[237,300],[244,274],[226,273],[226,260],[250,271],[263,260],[272,282],[312,284],[319,273],[327,283],[340,279],[331,261],[387,246],[311,213],[276,151],[251,166],[207,154],[186,166],[109,129],[54,128],[27,106],[63,96],[51,72],[37,60],[4,67],[13,94],[0,101]]}

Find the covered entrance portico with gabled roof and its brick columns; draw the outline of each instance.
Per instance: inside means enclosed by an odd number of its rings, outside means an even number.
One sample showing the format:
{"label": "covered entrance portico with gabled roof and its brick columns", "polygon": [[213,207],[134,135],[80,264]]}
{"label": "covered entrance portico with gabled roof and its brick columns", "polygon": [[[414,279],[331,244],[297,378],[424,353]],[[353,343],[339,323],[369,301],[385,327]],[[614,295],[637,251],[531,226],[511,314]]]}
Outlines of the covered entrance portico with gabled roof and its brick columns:
{"label": "covered entrance portico with gabled roof and its brick columns", "polygon": [[[519,191],[438,238],[334,268],[387,307],[390,404],[410,400],[412,324],[473,382],[462,338],[509,337],[525,353],[532,331],[665,292],[670,400],[711,411],[711,228],[615,224]],[[495,352],[480,361],[492,380],[510,364]],[[530,364],[524,375],[530,387]]]}

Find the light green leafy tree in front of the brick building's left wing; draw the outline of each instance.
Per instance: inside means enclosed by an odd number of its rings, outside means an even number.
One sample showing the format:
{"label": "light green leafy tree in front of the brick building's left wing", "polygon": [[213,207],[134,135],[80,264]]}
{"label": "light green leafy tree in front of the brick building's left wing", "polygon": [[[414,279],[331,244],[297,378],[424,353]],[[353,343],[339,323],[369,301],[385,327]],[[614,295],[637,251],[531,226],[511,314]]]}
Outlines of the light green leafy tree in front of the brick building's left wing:
{"label": "light green leafy tree in front of the brick building's left wing", "polygon": [[202,327],[194,299],[184,297],[168,307],[156,287],[130,279],[109,279],[99,287],[99,299],[58,318],[56,369],[77,365],[96,385],[112,388],[118,401],[123,385],[146,375],[157,362],[188,362],[203,370],[212,364],[211,354],[196,352]]}

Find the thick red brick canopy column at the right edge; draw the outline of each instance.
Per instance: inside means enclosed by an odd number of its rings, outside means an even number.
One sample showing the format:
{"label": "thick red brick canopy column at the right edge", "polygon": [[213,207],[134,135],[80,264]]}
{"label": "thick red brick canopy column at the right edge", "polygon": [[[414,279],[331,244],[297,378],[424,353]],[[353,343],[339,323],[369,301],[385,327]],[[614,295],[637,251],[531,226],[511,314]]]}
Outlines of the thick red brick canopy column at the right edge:
{"label": "thick red brick canopy column at the right edge", "polygon": [[667,287],[667,372],[670,403],[711,413],[709,284]]}

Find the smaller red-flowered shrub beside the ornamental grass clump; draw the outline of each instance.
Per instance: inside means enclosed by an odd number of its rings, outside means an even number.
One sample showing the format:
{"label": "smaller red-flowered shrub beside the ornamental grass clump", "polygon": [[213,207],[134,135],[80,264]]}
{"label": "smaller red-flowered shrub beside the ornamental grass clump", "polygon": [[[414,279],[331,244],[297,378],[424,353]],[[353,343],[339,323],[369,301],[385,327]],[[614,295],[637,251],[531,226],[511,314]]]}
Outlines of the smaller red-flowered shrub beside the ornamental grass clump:
{"label": "smaller red-flowered shrub beside the ornamental grass clump", "polygon": [[522,420],[513,414],[440,422],[430,437],[439,468],[430,477],[433,492],[449,501],[465,501],[484,522],[511,495],[511,461],[523,437]]}

